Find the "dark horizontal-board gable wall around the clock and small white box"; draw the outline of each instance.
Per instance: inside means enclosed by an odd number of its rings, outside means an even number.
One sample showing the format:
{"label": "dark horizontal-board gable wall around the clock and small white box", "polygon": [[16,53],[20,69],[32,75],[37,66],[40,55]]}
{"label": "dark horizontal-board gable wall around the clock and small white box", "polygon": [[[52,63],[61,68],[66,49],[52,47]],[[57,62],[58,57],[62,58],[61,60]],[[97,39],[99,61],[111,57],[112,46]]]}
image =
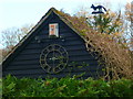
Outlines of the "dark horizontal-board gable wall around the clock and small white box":
{"label": "dark horizontal-board gable wall around the clock and small white box", "polygon": [[[59,33],[62,38],[49,37],[49,23],[59,23]],[[35,36],[41,38],[41,43],[35,41]],[[69,64],[66,68],[55,75],[47,74],[39,63],[41,51],[50,44],[60,44],[69,53]],[[71,63],[73,62],[76,63],[78,67],[72,67]],[[89,64],[89,66],[80,67],[83,63]],[[85,72],[86,74],[84,77],[95,77],[98,61],[89,54],[84,41],[52,12],[42,25],[33,32],[29,40],[24,42],[19,53],[17,53],[3,67],[3,76],[11,74],[17,77],[37,78],[41,76],[44,78],[51,76],[60,78],[69,74],[80,75]]]}

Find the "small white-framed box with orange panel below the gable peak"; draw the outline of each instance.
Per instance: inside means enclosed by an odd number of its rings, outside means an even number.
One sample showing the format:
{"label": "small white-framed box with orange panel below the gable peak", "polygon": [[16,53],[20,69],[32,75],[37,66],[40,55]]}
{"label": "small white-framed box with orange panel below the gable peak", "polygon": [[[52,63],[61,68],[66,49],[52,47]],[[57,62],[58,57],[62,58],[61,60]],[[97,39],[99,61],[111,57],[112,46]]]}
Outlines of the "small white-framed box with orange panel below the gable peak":
{"label": "small white-framed box with orange panel below the gable peak", "polygon": [[59,24],[58,23],[50,23],[49,24],[49,35],[59,37]]}

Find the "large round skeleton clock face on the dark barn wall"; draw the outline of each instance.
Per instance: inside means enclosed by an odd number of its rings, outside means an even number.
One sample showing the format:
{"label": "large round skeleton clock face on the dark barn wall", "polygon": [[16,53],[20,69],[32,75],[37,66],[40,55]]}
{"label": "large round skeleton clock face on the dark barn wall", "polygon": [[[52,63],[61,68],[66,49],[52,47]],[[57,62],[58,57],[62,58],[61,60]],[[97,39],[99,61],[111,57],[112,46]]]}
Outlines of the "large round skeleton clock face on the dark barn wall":
{"label": "large round skeleton clock face on the dark barn wall", "polygon": [[51,44],[41,52],[40,65],[47,73],[57,74],[65,68],[68,59],[68,52],[64,47]]}

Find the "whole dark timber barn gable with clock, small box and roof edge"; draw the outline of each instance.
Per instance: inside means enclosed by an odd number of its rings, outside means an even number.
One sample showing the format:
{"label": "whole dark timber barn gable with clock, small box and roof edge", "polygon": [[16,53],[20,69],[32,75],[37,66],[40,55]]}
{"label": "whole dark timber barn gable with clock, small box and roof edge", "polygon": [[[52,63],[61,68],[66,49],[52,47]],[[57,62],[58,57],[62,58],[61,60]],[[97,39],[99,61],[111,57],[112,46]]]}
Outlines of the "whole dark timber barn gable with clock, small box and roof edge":
{"label": "whole dark timber barn gable with clock, small box and roof edge", "polygon": [[2,62],[2,76],[83,78],[101,74],[95,54],[62,12],[51,8]]}

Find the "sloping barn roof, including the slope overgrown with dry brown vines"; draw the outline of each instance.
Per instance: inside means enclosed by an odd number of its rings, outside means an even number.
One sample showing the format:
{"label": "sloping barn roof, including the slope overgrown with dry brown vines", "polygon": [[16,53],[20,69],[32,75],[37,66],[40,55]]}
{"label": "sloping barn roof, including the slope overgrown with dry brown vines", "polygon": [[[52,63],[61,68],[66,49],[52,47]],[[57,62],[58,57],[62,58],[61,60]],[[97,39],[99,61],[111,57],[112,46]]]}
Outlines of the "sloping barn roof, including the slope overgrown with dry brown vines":
{"label": "sloping barn roof, including the slope overgrown with dry brown vines", "polygon": [[[91,52],[99,52],[103,61],[111,66],[120,66],[120,68],[126,68],[127,72],[131,67],[131,56],[127,48],[123,44],[116,43],[112,35],[105,33],[98,33],[92,30],[88,23],[86,19],[83,16],[71,16],[64,12],[58,11],[54,8],[51,8],[45,15],[37,23],[37,25],[25,35],[19,44],[12,50],[11,53],[3,59],[2,64],[6,64],[10,58],[14,56],[16,53],[20,51],[20,47],[24,45],[24,42],[30,40],[30,36],[33,32],[45,21],[45,19],[54,12],[65,24],[68,24],[75,33],[78,33],[84,41],[86,48]],[[129,68],[127,68],[129,67]],[[129,73],[132,74],[132,73]]]}

